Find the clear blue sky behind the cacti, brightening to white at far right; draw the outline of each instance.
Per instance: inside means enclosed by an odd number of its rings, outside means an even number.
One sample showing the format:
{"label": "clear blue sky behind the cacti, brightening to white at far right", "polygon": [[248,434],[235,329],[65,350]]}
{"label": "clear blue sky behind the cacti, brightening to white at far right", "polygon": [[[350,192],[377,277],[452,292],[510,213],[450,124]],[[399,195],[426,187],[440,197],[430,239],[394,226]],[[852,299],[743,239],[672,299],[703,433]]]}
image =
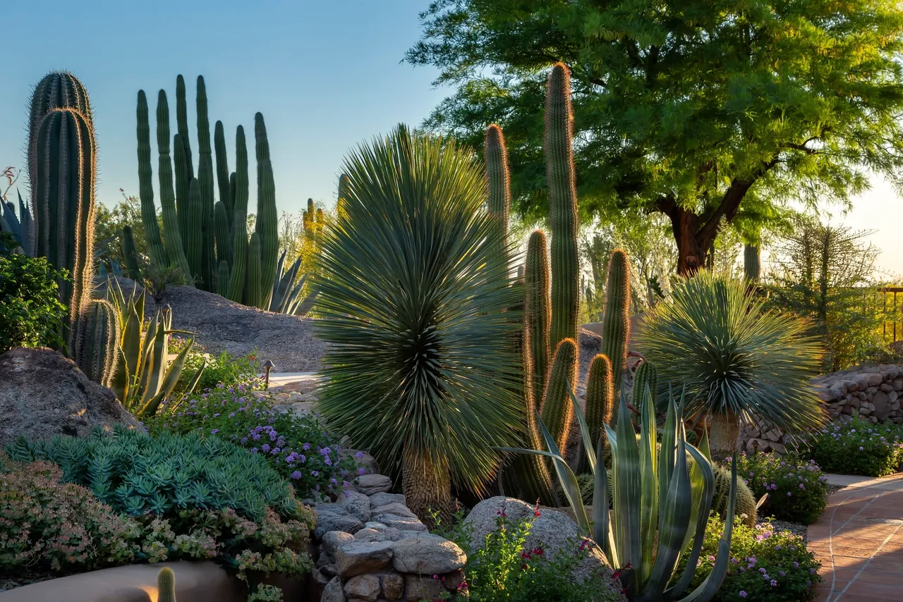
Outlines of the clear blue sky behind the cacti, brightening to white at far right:
{"label": "clear blue sky behind the cacti, brightening to white at far right", "polygon": [[[34,0],[5,3],[0,169],[24,166],[33,84],[48,70],[69,69],[88,87],[95,110],[98,199],[115,203],[120,188],[137,194],[138,89],[151,104],[152,128],[156,93],[166,89],[174,131],[175,77],[181,73],[196,136],[194,80],[203,75],[211,135],[221,120],[230,161],[236,125],[245,125],[253,136],[254,114],[260,111],[280,211],[296,212],[309,197],[330,204],[350,147],[399,122],[421,123],[449,93],[432,87],[435,70],[401,62],[420,36],[417,14],[428,2],[44,0],[40,9]],[[197,164],[196,137],[191,148]],[[254,207],[253,149],[251,161]],[[155,173],[154,183],[156,190]],[[835,221],[876,230],[871,240],[882,251],[880,269],[903,273],[903,200],[884,181],[873,181],[873,189],[855,199],[851,214],[834,213]]]}

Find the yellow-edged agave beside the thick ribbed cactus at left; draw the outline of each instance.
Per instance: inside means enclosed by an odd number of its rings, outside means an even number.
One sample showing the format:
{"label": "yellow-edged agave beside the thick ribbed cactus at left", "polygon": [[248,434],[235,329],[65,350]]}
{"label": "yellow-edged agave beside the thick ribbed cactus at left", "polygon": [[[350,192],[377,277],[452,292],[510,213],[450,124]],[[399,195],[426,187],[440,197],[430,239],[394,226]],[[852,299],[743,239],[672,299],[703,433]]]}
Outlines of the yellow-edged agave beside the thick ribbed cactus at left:
{"label": "yellow-edged agave beside the thick ribbed cactus at left", "polygon": [[[107,301],[116,310],[119,320],[119,362],[113,375],[113,390],[126,410],[139,418],[153,416],[161,403],[172,395],[182,375],[185,360],[194,345],[191,337],[179,354],[169,361],[169,338],[172,334],[191,335],[191,332],[172,329],[172,310],[157,310],[147,329],[144,329],[144,291],[132,289],[128,299],[119,282],[107,280]],[[191,376],[188,387],[179,399],[169,400],[174,408],[185,395],[191,394],[200,381],[206,362]]]}

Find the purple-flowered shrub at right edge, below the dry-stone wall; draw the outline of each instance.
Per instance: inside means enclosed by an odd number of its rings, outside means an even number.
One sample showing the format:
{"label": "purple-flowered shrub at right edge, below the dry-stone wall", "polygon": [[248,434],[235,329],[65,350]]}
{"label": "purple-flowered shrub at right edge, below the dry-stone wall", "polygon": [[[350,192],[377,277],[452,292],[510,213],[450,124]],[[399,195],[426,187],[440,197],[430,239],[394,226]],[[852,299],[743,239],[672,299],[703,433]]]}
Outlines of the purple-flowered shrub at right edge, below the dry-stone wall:
{"label": "purple-flowered shrub at right edge, below the dry-stone wall", "polygon": [[883,477],[903,464],[903,426],[872,424],[859,416],[833,421],[798,445],[825,472]]}

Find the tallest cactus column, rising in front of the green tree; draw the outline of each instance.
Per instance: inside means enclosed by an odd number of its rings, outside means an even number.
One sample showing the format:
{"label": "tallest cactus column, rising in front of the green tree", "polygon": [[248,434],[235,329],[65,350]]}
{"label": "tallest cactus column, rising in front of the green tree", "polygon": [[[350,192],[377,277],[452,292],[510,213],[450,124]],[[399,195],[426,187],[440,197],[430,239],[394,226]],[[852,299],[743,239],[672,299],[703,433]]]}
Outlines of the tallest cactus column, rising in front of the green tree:
{"label": "tallest cactus column, rising in front of the green tree", "polygon": [[577,337],[580,258],[577,255],[577,189],[573,168],[571,73],[557,63],[545,97],[545,170],[552,230],[552,346]]}

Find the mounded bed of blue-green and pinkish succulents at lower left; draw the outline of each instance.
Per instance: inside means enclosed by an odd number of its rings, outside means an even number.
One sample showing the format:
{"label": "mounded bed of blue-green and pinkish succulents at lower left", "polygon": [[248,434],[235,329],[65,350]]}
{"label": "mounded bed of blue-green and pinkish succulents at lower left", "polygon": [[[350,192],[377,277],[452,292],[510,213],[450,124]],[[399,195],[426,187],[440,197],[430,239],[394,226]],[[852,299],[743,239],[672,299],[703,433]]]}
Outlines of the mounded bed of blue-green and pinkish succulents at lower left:
{"label": "mounded bed of blue-green and pinkish succulents at lower left", "polygon": [[310,570],[312,510],[263,458],[228,441],[117,427],[22,438],[7,453],[0,521],[14,537],[5,538],[4,569],[207,559],[246,580]]}

